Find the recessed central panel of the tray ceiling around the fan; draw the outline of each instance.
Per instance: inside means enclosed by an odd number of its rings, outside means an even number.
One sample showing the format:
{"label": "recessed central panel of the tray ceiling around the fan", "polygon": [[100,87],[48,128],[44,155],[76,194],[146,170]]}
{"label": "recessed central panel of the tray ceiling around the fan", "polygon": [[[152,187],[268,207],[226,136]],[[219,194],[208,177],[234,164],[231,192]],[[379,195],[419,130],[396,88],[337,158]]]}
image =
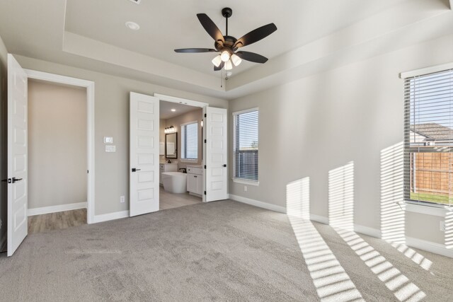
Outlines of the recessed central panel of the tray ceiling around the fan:
{"label": "recessed central panel of the tray ceiling around the fan", "polygon": [[[401,1],[287,0],[284,5],[276,6],[275,0],[232,0],[227,1],[233,9],[233,15],[229,18],[229,35],[239,38],[261,25],[275,23],[278,28],[275,33],[243,48],[273,58]],[[196,14],[206,13],[225,35],[225,19],[221,13],[225,5],[218,1],[200,0],[143,0],[139,5],[129,0],[68,0],[66,30],[214,74],[210,63],[214,54],[177,54],[173,50],[214,48],[214,40],[202,28]],[[126,28],[127,21],[138,23],[140,30],[134,32]],[[243,63],[234,69],[235,74],[256,65]]]}

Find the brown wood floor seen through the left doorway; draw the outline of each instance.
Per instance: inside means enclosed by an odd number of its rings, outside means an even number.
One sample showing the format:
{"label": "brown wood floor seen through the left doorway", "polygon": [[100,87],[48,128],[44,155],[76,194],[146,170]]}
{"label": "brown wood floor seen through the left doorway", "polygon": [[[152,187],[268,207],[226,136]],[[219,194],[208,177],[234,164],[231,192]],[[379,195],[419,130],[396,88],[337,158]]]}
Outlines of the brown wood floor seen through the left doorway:
{"label": "brown wood floor seen through the left doorway", "polygon": [[60,211],[28,217],[28,234],[62,230],[86,224],[86,209]]}

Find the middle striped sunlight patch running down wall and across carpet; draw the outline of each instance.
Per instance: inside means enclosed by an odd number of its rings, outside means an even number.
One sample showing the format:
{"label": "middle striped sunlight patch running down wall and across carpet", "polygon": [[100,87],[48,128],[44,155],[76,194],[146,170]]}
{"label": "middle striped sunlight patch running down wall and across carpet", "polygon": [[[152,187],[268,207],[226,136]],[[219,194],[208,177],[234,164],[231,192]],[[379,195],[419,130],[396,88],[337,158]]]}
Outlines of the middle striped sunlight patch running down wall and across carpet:
{"label": "middle striped sunlight patch running down wall and across carpet", "polygon": [[354,232],[353,162],[329,171],[328,205],[330,225],[398,301],[420,301],[426,296],[418,286]]}

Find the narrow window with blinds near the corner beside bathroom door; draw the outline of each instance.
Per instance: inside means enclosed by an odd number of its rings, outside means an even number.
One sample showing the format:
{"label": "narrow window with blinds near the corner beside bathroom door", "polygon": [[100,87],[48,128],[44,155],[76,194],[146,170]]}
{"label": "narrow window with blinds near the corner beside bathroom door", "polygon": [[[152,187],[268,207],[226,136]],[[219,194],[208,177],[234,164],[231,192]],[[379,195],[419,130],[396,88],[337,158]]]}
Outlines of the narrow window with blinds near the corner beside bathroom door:
{"label": "narrow window with blinds near the corner beside bathroom door", "polygon": [[234,178],[258,182],[258,108],[235,112]]}

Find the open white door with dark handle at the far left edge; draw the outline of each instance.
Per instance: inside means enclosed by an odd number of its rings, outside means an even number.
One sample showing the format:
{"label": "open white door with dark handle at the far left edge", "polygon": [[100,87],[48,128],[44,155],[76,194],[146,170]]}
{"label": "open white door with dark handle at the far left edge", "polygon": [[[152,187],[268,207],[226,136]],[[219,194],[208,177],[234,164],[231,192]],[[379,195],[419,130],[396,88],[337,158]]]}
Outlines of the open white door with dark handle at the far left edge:
{"label": "open white door with dark handle at the far left edge", "polygon": [[8,54],[8,257],[28,233],[27,74]]}

